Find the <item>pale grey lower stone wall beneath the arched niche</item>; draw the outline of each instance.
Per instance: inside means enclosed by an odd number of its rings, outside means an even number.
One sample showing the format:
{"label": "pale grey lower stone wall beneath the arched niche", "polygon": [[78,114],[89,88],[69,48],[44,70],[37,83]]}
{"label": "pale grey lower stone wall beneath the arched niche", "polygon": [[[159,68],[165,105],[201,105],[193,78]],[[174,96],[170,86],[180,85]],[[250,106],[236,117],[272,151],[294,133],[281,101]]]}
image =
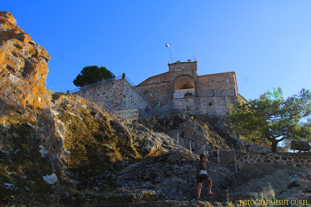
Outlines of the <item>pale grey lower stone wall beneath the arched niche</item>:
{"label": "pale grey lower stone wall beneath the arched niche", "polygon": [[209,116],[226,116],[229,104],[236,104],[237,97],[214,96],[173,99],[173,108],[183,110],[186,114],[207,114]]}

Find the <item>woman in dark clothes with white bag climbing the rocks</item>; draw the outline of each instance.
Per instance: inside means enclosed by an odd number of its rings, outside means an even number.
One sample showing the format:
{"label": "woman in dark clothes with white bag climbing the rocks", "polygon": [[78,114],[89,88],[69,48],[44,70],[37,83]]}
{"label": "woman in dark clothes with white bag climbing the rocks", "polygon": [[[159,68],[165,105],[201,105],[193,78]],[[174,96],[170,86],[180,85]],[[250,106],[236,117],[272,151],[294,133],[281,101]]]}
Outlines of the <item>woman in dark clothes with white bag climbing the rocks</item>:
{"label": "woman in dark clothes with white bag climbing the rocks", "polygon": [[201,190],[202,190],[202,186],[203,186],[203,180],[207,181],[208,183],[208,192],[207,194],[208,195],[213,195],[214,193],[211,192],[212,190],[212,179],[210,179],[210,177],[208,177],[207,174],[201,174],[200,175],[200,171],[201,170],[207,170],[206,169],[206,157],[205,155],[201,154],[200,155],[200,160],[198,161],[197,163],[197,171],[196,171],[196,183],[198,184],[198,196],[197,196],[197,200],[200,200],[201,199]]}

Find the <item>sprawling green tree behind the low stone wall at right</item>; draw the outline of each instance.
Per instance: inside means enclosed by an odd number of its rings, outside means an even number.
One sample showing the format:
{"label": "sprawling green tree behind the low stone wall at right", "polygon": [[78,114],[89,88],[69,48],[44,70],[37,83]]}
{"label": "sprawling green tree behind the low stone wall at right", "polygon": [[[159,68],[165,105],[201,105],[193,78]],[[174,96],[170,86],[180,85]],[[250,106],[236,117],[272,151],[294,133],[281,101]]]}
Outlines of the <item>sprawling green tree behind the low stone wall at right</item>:
{"label": "sprawling green tree behind the low stone wall at right", "polygon": [[271,142],[272,152],[284,140],[311,140],[311,92],[302,89],[286,100],[274,88],[249,103],[230,106],[227,129],[251,142]]}

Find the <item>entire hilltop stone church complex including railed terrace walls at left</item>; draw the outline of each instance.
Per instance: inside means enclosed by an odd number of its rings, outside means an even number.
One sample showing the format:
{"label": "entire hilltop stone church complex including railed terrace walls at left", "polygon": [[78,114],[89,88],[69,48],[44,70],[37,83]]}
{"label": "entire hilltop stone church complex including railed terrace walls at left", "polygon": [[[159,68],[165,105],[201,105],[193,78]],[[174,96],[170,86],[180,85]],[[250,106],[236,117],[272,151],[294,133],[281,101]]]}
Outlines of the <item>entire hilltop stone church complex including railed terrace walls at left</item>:
{"label": "entire hilltop stone church complex including railed terrace walls at left", "polygon": [[229,104],[245,101],[238,93],[235,72],[198,75],[195,60],[168,64],[169,71],[155,75],[135,86],[123,73],[112,80],[71,91],[107,111],[171,104],[186,114],[225,116]]}

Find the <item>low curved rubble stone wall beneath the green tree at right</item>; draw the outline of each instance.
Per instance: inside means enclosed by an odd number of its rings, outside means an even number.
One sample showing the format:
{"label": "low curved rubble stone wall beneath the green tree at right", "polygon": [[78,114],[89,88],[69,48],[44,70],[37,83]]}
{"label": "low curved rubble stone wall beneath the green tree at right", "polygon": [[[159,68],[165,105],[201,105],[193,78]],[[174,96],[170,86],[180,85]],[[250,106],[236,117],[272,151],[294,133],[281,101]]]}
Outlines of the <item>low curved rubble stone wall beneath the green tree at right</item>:
{"label": "low curved rubble stone wall beneath the green tree at right", "polygon": [[279,163],[311,168],[311,153],[248,153],[237,160],[238,168],[247,163]]}

